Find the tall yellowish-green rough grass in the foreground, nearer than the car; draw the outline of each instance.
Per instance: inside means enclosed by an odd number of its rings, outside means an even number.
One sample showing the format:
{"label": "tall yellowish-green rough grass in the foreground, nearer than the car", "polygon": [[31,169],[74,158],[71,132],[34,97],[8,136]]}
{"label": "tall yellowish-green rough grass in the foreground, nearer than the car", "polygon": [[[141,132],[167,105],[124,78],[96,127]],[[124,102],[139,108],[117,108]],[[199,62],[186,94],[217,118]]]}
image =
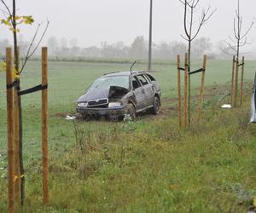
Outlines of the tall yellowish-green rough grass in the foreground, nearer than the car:
{"label": "tall yellowish-green rough grass in the foreground, nearer than the car", "polygon": [[[132,123],[78,122],[83,152],[73,135],[69,149],[52,155],[47,208],[40,162],[28,163],[23,212],[245,212],[256,196],[256,126],[248,112],[248,102],[207,107],[203,122],[188,130],[169,113]],[[4,212],[6,193],[0,198]]]}

